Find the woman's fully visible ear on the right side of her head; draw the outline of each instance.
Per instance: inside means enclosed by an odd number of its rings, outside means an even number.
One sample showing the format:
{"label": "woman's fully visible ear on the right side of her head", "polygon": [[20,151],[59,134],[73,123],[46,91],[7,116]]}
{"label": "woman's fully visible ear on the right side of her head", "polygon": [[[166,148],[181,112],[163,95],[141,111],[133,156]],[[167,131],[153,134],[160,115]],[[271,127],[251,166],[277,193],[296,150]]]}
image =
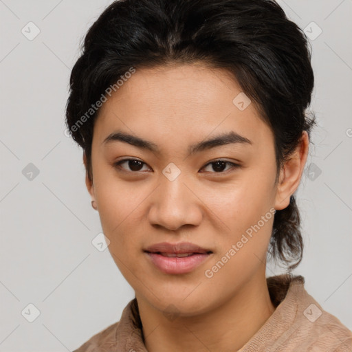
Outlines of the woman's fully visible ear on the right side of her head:
{"label": "woman's fully visible ear on the right side of her head", "polygon": [[276,210],[283,210],[289,206],[289,198],[300,184],[305,162],[307,161],[308,150],[308,133],[307,131],[303,131],[300,143],[280,170],[274,206]]}

